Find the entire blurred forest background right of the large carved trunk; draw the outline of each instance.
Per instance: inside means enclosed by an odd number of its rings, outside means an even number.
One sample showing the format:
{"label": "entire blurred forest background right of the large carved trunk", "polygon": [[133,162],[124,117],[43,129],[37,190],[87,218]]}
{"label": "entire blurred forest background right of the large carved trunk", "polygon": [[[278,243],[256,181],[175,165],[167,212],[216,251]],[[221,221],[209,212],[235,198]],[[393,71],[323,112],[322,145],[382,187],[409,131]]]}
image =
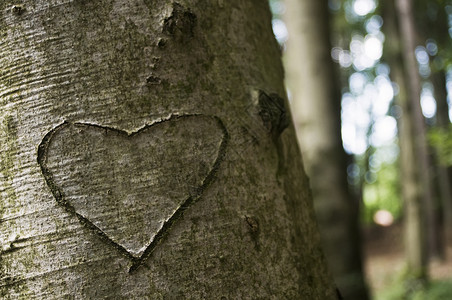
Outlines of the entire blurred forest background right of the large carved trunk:
{"label": "entire blurred forest background right of the large carved trunk", "polygon": [[452,3],[270,0],[344,299],[452,299]]}

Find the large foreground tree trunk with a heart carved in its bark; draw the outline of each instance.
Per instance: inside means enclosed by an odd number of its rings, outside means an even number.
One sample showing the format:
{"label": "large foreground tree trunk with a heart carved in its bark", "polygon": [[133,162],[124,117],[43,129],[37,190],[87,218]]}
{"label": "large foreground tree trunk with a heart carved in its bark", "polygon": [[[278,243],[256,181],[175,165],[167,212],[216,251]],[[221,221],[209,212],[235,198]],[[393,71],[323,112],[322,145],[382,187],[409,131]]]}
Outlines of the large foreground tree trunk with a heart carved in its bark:
{"label": "large foreground tree trunk with a heart carved in its bark", "polygon": [[20,3],[0,298],[336,298],[266,1]]}

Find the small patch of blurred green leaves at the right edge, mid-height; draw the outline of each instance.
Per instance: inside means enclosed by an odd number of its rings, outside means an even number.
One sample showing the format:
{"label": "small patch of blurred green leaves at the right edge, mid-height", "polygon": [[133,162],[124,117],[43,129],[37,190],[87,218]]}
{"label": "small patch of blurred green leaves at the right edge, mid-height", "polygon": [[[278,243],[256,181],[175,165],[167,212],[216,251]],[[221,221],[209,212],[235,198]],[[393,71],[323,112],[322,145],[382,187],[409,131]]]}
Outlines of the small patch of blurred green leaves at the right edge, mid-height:
{"label": "small patch of blurred green leaves at the right edge, mid-height", "polygon": [[432,128],[428,140],[435,148],[440,164],[452,166],[452,125],[449,128]]}

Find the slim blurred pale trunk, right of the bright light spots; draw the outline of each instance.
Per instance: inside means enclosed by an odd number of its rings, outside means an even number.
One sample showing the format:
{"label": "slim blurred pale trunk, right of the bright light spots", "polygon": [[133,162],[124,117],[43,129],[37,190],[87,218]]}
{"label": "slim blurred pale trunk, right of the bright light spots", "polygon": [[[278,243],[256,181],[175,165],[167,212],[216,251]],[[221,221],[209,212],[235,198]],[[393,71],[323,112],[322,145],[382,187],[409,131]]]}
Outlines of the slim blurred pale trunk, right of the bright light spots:
{"label": "slim blurred pale trunk, right of the bright light spots", "polygon": [[[386,3],[391,1],[386,1]],[[388,4],[389,5],[389,4]],[[401,57],[404,71],[395,68],[400,88],[399,103],[402,107],[400,125],[400,156],[402,164],[402,187],[405,203],[405,247],[407,274],[414,284],[427,279],[426,232],[429,198],[429,164],[427,160],[424,119],[420,107],[420,78],[414,57],[414,21],[411,2],[396,1],[400,24]],[[389,44],[392,44],[389,42]],[[399,71],[399,72],[397,72]],[[427,205],[427,206],[426,206]],[[431,211],[431,210],[430,210]],[[428,229],[427,229],[428,230]]]}

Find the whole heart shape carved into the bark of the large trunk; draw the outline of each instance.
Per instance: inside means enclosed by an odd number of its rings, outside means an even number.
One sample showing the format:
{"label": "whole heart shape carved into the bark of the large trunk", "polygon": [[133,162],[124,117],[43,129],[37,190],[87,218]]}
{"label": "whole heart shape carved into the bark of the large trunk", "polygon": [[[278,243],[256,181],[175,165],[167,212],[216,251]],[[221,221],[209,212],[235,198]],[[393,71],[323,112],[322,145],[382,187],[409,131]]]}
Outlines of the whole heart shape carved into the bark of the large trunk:
{"label": "whole heart shape carved into the bark of the large trunk", "polygon": [[204,115],[131,134],[65,122],[44,137],[38,162],[57,202],[137,263],[212,182],[227,137]]}

